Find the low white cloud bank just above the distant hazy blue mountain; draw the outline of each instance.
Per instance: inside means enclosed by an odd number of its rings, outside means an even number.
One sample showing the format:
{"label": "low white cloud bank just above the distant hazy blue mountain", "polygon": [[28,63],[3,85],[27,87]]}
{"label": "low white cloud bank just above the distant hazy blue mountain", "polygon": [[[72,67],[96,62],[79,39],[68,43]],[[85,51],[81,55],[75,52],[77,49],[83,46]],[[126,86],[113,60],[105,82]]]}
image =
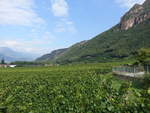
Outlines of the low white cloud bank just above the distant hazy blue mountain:
{"label": "low white cloud bank just above the distant hazy blue mountain", "polygon": [[11,39],[6,38],[6,40],[0,41],[0,47],[9,47],[16,51],[34,53],[37,55],[43,55],[45,53],[49,53],[51,50],[56,48],[48,47],[47,45],[51,45],[55,39],[55,36],[51,32],[43,33],[43,36],[40,39]]}

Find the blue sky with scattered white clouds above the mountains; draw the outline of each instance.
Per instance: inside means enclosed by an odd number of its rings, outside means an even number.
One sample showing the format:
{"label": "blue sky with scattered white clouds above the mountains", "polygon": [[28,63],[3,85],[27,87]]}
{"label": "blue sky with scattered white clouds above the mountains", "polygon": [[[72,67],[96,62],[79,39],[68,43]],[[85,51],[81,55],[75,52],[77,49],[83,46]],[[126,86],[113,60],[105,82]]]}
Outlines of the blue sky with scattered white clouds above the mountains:
{"label": "blue sky with scattered white clouds above the mountains", "polygon": [[38,55],[91,39],[144,0],[0,0],[0,46]]}

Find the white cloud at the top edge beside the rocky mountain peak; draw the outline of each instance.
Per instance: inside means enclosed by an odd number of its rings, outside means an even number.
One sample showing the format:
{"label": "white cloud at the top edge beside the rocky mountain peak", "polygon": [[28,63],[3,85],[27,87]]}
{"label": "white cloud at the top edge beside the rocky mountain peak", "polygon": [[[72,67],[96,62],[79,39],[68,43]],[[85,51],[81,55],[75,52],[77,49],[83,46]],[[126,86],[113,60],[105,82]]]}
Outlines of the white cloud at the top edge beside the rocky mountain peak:
{"label": "white cloud at the top edge beside the rocky mountain peak", "polygon": [[121,7],[131,8],[134,4],[142,4],[145,0],[115,0]]}

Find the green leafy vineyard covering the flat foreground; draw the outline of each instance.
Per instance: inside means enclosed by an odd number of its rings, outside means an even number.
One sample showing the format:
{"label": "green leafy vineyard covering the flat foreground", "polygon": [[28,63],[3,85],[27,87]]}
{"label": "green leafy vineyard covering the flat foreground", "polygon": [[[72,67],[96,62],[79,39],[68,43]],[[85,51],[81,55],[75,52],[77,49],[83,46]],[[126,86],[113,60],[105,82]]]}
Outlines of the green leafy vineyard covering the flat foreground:
{"label": "green leafy vineyard covering the flat foreground", "polygon": [[112,65],[0,69],[0,113],[148,113],[150,89],[111,75]]}

